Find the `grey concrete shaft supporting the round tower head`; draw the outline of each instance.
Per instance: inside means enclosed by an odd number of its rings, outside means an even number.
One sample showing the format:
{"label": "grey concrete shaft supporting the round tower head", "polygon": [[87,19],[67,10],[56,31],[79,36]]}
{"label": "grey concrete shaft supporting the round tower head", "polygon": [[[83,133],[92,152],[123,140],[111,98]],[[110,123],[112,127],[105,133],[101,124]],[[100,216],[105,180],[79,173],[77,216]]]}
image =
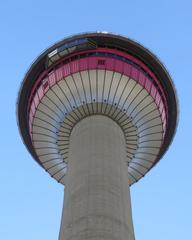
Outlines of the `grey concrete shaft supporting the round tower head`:
{"label": "grey concrete shaft supporting the round tower head", "polygon": [[110,118],[81,120],[70,137],[60,240],[133,240],[126,142]]}

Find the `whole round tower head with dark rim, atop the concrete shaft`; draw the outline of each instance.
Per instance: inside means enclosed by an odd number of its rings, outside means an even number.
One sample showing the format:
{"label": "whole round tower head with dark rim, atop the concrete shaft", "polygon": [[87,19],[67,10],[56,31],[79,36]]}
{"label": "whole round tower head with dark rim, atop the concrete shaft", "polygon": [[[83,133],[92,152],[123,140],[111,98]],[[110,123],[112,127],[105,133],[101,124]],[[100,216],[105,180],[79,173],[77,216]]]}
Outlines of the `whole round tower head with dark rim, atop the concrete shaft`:
{"label": "whole round tower head with dark rim, atop the concrete shaft", "polygon": [[70,134],[83,118],[104,115],[123,130],[129,182],[167,150],[177,123],[169,74],[147,49],[122,36],[66,38],[33,63],[18,98],[18,125],[35,160],[65,184]]}

